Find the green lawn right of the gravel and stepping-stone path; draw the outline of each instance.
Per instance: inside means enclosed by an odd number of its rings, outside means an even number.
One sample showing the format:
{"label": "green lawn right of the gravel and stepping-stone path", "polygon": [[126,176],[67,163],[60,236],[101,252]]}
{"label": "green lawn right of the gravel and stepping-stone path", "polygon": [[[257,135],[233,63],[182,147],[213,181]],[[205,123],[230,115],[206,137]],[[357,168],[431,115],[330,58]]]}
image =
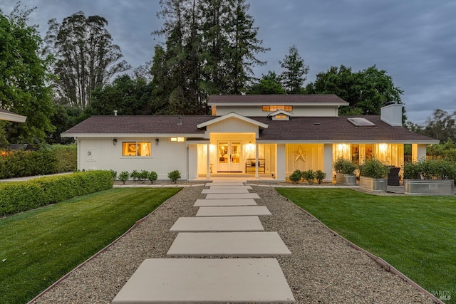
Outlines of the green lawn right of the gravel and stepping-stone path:
{"label": "green lawn right of the gravel and stepping-stone path", "polygon": [[455,300],[454,196],[375,196],[351,189],[276,190],[430,293],[446,291]]}

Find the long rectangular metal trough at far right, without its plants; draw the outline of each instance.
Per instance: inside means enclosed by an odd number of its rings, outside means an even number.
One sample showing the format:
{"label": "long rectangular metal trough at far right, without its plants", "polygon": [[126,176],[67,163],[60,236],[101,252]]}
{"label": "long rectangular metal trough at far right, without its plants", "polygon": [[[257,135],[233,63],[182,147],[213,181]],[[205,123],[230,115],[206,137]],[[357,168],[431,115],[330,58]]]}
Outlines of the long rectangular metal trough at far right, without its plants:
{"label": "long rectangular metal trough at far right, without its plants", "polygon": [[453,195],[454,179],[404,179],[404,193],[416,195]]}

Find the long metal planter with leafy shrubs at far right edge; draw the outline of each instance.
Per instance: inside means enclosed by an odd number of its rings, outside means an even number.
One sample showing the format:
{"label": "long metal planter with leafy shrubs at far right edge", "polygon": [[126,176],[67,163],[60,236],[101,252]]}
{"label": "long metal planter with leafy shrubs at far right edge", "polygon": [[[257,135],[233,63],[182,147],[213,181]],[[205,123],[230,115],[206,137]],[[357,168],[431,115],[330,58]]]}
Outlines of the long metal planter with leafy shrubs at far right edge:
{"label": "long metal planter with leafy shrubs at far right edge", "polygon": [[404,164],[404,193],[455,194],[456,165],[440,159],[422,159]]}

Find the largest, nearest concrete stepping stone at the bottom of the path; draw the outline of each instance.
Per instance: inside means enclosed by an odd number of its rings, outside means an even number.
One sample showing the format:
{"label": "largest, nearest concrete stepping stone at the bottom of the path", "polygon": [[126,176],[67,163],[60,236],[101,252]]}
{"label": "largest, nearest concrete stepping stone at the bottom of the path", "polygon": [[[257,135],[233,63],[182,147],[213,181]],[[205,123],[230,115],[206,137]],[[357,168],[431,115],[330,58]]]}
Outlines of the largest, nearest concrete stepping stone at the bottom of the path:
{"label": "largest, nearest concrete stepping stone at the bottom of the path", "polygon": [[142,262],[112,303],[295,300],[275,258],[152,258]]}

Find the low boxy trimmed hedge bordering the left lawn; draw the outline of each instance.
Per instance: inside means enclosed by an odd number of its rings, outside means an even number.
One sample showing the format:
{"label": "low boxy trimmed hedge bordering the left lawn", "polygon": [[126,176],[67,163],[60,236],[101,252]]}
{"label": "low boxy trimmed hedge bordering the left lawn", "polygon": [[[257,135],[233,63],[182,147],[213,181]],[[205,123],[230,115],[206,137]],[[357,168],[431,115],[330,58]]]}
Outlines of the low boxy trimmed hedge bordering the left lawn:
{"label": "low boxy trimmed hedge bordering the left lawn", "polygon": [[16,214],[113,187],[109,171],[76,172],[0,183],[0,216]]}

